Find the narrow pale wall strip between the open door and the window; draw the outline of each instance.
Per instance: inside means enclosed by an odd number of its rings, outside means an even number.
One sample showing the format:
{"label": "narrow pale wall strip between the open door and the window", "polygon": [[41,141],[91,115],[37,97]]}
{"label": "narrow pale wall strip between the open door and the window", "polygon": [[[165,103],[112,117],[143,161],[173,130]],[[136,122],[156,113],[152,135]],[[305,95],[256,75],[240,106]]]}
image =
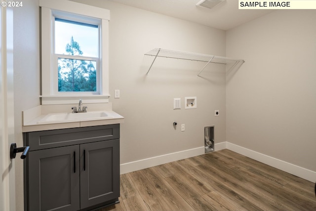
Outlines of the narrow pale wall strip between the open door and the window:
{"label": "narrow pale wall strip between the open door and the window", "polygon": [[[22,111],[40,105],[40,11],[38,0],[23,0],[13,9],[15,141],[23,146]],[[15,162],[16,210],[24,210],[23,160]]]}

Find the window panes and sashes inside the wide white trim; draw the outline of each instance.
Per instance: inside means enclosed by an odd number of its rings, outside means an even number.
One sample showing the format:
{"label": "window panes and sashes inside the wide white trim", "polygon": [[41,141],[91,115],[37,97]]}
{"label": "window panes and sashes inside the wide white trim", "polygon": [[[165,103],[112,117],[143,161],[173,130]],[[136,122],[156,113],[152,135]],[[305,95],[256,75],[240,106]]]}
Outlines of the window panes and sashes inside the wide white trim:
{"label": "window panes and sashes inside the wide white trim", "polygon": [[98,93],[99,26],[56,16],[54,26],[58,92]]}

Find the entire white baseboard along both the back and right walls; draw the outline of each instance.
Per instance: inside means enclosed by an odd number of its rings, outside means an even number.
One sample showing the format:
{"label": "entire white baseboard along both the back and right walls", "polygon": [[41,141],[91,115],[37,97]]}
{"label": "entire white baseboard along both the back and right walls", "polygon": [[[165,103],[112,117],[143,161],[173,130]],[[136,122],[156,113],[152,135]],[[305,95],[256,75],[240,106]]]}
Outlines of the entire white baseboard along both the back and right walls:
{"label": "entire white baseboard along both the back and right walls", "polygon": [[[301,177],[311,182],[316,181],[315,171],[305,169],[305,168],[287,163],[285,161],[281,161],[271,156],[264,155],[262,153],[238,146],[236,144],[232,144],[230,142],[225,141],[225,142],[217,143],[215,144],[214,148],[215,148],[215,151],[229,149],[238,154],[244,155],[248,158],[251,158],[261,163],[275,167],[276,169],[280,169],[285,172],[291,173],[295,176]],[[125,163],[125,164],[120,165],[120,173],[124,174],[124,173],[132,172],[135,170],[146,169],[146,168],[158,166],[161,164],[178,161],[181,159],[191,158],[191,157],[202,155],[202,154],[204,154],[204,147],[197,147],[194,149],[184,150],[180,152],[175,152],[175,153],[160,155],[160,156],[147,158],[147,159],[143,159],[139,161],[134,161],[130,163]]]}

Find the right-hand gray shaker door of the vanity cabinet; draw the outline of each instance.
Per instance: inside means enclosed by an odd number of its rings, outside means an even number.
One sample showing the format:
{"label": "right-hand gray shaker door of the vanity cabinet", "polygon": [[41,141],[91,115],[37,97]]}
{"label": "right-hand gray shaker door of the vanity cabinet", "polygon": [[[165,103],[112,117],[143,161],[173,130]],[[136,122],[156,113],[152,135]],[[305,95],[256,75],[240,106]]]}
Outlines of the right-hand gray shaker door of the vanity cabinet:
{"label": "right-hand gray shaker door of the vanity cabinet", "polygon": [[119,139],[80,144],[80,208],[119,197]]}

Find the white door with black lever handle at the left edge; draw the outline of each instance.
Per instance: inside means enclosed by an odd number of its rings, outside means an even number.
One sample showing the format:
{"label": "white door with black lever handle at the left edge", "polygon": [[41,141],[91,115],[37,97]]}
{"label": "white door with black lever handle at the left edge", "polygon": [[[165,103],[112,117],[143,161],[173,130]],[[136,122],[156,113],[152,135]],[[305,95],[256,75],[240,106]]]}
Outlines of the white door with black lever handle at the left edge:
{"label": "white door with black lever handle at the left edge", "polygon": [[14,141],[13,10],[0,8],[0,210],[15,210],[14,162],[9,148]]}

